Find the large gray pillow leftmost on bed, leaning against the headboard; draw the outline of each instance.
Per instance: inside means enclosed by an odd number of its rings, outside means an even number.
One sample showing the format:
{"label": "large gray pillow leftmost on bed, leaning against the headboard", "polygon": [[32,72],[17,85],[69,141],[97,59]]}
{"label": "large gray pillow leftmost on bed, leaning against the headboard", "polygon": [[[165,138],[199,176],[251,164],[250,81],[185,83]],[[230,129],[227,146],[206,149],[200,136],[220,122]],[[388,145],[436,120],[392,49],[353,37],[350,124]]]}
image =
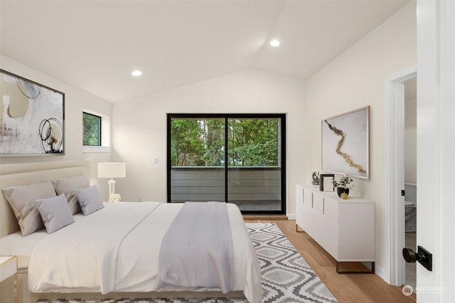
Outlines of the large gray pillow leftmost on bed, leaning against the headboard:
{"label": "large gray pillow leftmost on bed, leaning against the headboard", "polygon": [[22,236],[30,235],[44,227],[36,199],[55,197],[50,181],[22,186],[1,188],[11,208],[13,208]]}

